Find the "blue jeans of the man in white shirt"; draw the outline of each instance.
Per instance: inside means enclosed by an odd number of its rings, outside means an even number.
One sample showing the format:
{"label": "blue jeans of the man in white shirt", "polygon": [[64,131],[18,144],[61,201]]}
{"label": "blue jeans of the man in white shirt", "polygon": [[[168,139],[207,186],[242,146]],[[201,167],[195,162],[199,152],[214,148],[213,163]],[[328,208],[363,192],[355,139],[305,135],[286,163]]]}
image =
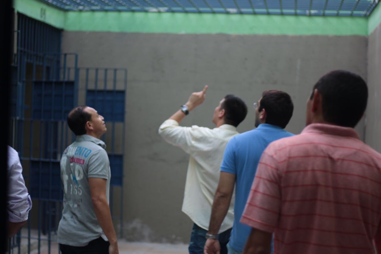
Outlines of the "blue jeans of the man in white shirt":
{"label": "blue jeans of the man in white shirt", "polygon": [[[221,246],[221,254],[227,254],[226,244],[229,242],[230,232],[232,229],[228,229],[218,235],[218,241]],[[190,254],[203,254],[205,242],[205,235],[208,230],[200,228],[195,223],[193,223],[191,241],[189,242],[188,251]]]}

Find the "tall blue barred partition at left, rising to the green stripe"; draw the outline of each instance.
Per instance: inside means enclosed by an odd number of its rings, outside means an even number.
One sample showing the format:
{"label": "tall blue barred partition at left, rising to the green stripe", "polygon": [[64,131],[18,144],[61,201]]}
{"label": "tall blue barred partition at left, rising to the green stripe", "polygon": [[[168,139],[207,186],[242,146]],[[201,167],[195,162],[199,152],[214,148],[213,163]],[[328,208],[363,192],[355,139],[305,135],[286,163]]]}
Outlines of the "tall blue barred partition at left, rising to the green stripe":
{"label": "tall blue barred partition at left, rising to the green stripe", "polygon": [[[43,246],[50,253],[62,210],[59,156],[63,150],[59,145],[68,143],[59,139],[59,133],[67,131],[60,127],[66,112],[59,104],[74,106],[77,80],[62,75],[69,56],[60,53],[62,31],[20,13],[17,17],[8,143],[19,152],[33,208],[27,227],[10,241],[10,253],[29,253],[33,246],[38,253]],[[77,55],[70,58],[70,64],[77,68]],[[69,90],[71,97],[67,96]]]}

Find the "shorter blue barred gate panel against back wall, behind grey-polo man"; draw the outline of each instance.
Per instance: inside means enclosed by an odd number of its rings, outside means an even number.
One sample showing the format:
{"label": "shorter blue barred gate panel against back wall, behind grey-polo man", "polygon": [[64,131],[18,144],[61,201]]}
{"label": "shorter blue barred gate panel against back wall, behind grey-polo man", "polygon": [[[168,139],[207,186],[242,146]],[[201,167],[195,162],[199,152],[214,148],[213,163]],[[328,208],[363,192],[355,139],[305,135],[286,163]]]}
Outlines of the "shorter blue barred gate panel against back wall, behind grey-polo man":
{"label": "shorter blue barred gate panel against back wall, behind grey-polo man", "polygon": [[[111,168],[110,210],[122,237],[127,69],[79,68],[79,80],[80,90],[85,90],[79,104],[95,108],[104,117],[108,129],[102,139],[107,146]],[[115,199],[117,202],[114,202]]]}

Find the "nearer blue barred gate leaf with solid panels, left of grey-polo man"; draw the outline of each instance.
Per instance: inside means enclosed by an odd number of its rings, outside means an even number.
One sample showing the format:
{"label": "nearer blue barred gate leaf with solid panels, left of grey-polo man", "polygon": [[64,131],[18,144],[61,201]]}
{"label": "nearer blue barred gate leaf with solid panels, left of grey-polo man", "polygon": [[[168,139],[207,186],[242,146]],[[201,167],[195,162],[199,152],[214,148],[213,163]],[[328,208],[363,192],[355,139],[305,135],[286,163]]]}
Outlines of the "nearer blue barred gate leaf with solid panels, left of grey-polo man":
{"label": "nearer blue barred gate leaf with solid panels, left of grey-polo man", "polygon": [[57,253],[58,249],[51,250],[51,244],[56,241],[62,210],[59,159],[70,143],[66,116],[76,104],[78,83],[75,72],[72,77],[62,74],[67,69],[67,58],[73,58],[71,62],[76,63],[78,56],[31,53],[23,49],[18,50],[18,55],[21,100],[17,104],[21,110],[11,117],[11,145],[19,151],[33,209],[28,226],[16,236],[17,244],[13,246],[16,248],[10,252],[20,253],[24,245],[28,252],[37,246],[38,253],[43,248],[48,253]]}

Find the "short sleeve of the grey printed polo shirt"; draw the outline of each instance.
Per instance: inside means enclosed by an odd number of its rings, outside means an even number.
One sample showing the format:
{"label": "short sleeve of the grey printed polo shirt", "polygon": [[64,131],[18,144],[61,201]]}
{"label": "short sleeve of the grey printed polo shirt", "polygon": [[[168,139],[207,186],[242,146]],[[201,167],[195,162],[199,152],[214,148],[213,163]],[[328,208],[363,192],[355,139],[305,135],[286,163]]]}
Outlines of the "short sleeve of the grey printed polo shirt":
{"label": "short sleeve of the grey printed polo shirt", "polygon": [[89,178],[109,178],[109,157],[107,156],[106,151],[99,150],[91,155],[88,161],[88,173]]}

